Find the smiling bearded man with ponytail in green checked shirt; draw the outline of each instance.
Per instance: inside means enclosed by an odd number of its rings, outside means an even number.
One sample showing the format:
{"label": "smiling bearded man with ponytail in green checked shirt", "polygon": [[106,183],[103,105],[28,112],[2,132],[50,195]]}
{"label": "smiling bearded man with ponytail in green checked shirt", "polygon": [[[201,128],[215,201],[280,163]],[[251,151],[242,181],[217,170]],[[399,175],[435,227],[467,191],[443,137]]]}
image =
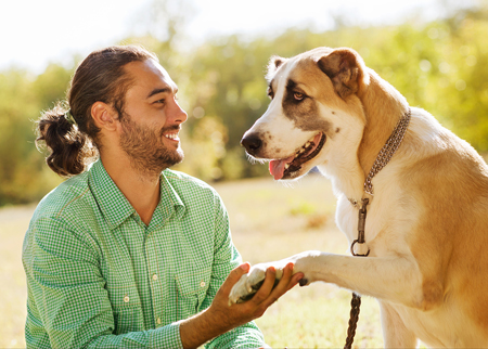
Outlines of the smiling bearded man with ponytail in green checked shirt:
{"label": "smiling bearded man with ponytail in green checked shirt", "polygon": [[303,275],[290,264],[273,288],[270,268],[251,301],[229,306],[249,266],[217,193],[168,169],[183,158],[177,91],[153,54],[112,47],[77,68],[69,111],[39,120],[48,165],[72,178],[41,201],[26,233],[28,347],[265,345],[252,320]]}

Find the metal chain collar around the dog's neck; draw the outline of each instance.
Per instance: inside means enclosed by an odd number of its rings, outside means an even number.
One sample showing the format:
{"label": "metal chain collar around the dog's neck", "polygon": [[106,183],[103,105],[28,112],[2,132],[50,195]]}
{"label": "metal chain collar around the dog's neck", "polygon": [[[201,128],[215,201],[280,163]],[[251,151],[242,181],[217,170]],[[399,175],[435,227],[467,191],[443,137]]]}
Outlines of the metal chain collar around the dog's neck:
{"label": "metal chain collar around the dog's neck", "polygon": [[374,160],[374,164],[371,167],[371,170],[364,181],[365,193],[373,195],[373,183],[371,181],[373,180],[373,177],[376,176],[376,173],[380,172],[386,166],[386,164],[389,163],[391,156],[400,146],[407,131],[407,127],[410,124],[411,115],[412,111],[409,108],[409,111],[400,118],[385,145],[383,145],[382,150],[377,154],[376,159]]}

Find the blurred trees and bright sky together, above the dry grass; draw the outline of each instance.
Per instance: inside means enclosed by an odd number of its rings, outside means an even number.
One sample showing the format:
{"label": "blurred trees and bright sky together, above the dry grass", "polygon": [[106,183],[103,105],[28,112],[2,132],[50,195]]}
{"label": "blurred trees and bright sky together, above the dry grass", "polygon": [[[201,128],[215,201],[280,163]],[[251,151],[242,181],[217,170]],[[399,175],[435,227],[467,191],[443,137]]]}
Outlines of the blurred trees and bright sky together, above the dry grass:
{"label": "blurred trees and bright sky together, above the dry grass", "polygon": [[34,144],[42,109],[76,65],[108,44],[141,43],[178,83],[189,114],[179,169],[206,181],[267,173],[239,142],[266,111],[272,54],[351,47],[411,105],[488,152],[487,1],[12,1],[0,14],[0,205],[57,181]]}

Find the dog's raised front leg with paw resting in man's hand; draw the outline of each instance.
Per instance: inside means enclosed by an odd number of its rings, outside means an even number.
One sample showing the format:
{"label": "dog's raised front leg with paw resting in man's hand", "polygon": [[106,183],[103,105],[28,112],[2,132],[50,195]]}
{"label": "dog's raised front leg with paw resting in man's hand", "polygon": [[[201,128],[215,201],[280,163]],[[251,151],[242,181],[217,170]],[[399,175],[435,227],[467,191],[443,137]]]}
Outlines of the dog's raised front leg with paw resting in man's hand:
{"label": "dog's raised front leg with paw resting in man's hand", "polygon": [[303,272],[300,285],[316,281],[334,283],[361,295],[399,302],[408,307],[422,308],[422,275],[413,257],[349,257],[305,251],[291,258],[256,264],[242,276],[230,294],[230,301],[246,299],[259,288],[265,271],[273,266],[281,274],[287,262],[294,262],[294,273]]}

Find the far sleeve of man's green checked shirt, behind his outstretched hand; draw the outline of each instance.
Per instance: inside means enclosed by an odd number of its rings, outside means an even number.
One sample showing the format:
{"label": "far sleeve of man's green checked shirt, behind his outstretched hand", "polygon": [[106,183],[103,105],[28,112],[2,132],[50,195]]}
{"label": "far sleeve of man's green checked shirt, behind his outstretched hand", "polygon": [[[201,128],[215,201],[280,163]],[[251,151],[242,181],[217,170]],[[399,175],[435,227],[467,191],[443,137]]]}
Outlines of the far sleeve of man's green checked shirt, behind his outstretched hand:
{"label": "far sleeve of man's green checked shirt, behind his outstretched hand", "polygon": [[[202,303],[202,309],[210,306],[220,285],[232,269],[242,263],[241,255],[232,243],[229,217],[222,201],[217,195],[215,199],[215,250],[210,286]],[[239,326],[207,342],[205,348],[259,348],[266,347],[262,333],[254,321]]]}

